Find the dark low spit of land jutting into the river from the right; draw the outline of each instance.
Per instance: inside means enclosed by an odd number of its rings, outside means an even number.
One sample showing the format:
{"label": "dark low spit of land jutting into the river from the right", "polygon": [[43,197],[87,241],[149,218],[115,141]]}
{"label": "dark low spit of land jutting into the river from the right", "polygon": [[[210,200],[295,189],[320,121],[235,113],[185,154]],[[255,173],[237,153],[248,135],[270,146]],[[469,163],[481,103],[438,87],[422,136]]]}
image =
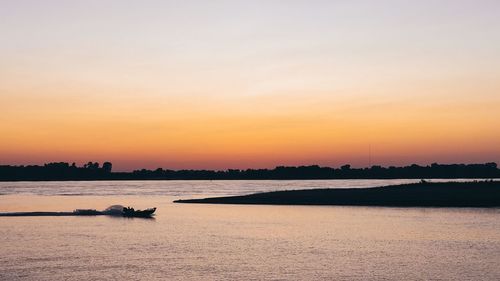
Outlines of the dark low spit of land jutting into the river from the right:
{"label": "dark low spit of land jutting into the river from the right", "polygon": [[287,190],[174,203],[491,208],[500,207],[500,181],[422,181],[373,188]]}

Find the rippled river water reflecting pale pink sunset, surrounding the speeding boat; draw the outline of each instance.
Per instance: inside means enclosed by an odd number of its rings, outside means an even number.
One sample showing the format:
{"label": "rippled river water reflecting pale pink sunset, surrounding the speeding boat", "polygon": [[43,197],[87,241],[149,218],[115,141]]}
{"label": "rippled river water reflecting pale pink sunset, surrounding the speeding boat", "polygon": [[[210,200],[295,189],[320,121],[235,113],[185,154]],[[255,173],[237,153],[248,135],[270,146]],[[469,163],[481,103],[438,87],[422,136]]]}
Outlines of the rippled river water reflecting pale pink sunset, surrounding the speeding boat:
{"label": "rippled river water reflecting pale pink sunset, surrounding the speeding boat", "polygon": [[0,183],[0,212],[158,207],[154,220],[2,217],[0,280],[500,280],[499,209],[171,203],[399,182]]}

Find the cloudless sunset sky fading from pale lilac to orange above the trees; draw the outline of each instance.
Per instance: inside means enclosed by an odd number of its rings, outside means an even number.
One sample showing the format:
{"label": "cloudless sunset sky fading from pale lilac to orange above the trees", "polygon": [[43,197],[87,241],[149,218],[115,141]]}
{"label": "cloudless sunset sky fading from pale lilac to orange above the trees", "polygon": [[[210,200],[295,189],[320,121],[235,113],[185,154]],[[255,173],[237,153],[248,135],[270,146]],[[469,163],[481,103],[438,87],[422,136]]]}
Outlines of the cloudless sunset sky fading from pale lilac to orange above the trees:
{"label": "cloudless sunset sky fading from pale lilac to orange above the trees", "polygon": [[0,0],[0,164],[500,163],[499,50],[497,0]]}

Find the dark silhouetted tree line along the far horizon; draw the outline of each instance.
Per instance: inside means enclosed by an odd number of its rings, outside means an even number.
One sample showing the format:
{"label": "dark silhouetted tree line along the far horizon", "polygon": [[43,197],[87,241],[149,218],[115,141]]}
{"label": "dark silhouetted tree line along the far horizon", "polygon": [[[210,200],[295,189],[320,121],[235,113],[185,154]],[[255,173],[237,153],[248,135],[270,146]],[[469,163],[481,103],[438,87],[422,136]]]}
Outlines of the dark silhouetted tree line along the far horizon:
{"label": "dark silhouetted tree line along the far horizon", "polygon": [[285,179],[429,179],[429,178],[500,178],[496,163],[484,164],[417,164],[404,167],[372,166],[339,168],[310,166],[278,166],[274,169],[214,170],[135,170],[113,172],[112,163],[102,166],[88,162],[82,167],[75,163],[47,163],[43,166],[0,165],[1,181],[22,180],[285,180]]}

